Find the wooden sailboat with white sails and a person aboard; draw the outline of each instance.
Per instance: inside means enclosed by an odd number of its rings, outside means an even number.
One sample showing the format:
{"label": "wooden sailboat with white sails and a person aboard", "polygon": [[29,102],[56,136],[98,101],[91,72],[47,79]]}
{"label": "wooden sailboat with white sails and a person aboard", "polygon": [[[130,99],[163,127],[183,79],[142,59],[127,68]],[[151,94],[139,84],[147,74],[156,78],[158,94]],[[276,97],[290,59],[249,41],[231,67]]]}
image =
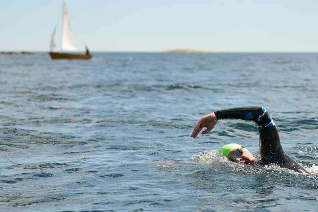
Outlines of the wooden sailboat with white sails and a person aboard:
{"label": "wooden sailboat with white sails and a person aboard", "polygon": [[[86,47],[86,54],[74,54],[68,52],[53,52],[53,48],[56,47],[54,36],[56,32],[57,25],[55,26],[51,42],[50,42],[50,56],[52,59],[90,59],[92,55],[89,53]],[[62,14],[62,39],[61,39],[61,50],[62,51],[78,51],[78,48],[74,42],[74,35],[72,33],[70,21],[67,16],[65,0],[63,0],[63,14]]]}

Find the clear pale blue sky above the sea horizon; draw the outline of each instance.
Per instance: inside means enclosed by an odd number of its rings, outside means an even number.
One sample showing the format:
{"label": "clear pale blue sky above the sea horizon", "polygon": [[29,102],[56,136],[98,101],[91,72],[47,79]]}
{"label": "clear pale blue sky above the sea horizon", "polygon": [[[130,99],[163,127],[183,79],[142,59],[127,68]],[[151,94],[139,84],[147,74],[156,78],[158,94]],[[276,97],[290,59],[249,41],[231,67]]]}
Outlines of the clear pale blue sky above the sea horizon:
{"label": "clear pale blue sky above the sea horizon", "polygon": [[[317,52],[315,0],[66,0],[84,51]],[[60,51],[62,0],[0,0],[0,51]]]}

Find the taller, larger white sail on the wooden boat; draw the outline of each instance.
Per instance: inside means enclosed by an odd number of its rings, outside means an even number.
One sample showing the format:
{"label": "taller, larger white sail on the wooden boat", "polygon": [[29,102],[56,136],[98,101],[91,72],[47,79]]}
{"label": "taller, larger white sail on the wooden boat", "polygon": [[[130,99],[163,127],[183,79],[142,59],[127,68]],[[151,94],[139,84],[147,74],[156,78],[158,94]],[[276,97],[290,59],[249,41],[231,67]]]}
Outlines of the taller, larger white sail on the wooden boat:
{"label": "taller, larger white sail on the wooden boat", "polygon": [[67,17],[67,10],[65,0],[63,1],[63,20],[62,20],[62,50],[64,51],[77,51],[74,43],[74,36],[72,33],[70,21]]}

